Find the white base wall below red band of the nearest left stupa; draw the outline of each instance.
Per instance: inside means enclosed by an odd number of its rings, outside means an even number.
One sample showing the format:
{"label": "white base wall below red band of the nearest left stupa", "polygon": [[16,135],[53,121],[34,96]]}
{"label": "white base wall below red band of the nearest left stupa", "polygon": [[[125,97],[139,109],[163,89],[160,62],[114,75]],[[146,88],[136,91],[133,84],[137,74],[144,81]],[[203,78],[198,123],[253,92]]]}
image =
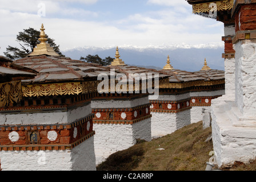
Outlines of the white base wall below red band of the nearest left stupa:
{"label": "white base wall below red band of the nearest left stupa", "polygon": [[71,150],[0,151],[4,171],[95,171],[93,137]]}

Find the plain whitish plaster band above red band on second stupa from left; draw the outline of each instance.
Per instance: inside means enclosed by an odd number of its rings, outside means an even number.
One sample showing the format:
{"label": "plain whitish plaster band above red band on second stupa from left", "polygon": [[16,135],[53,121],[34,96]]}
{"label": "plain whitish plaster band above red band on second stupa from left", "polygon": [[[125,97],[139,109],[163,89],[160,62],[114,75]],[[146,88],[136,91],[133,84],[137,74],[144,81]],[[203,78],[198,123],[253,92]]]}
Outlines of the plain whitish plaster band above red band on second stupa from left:
{"label": "plain whitish plaster band above red band on second stupa from left", "polygon": [[149,104],[149,97],[137,98],[134,100],[92,100],[91,108],[122,108],[135,107]]}

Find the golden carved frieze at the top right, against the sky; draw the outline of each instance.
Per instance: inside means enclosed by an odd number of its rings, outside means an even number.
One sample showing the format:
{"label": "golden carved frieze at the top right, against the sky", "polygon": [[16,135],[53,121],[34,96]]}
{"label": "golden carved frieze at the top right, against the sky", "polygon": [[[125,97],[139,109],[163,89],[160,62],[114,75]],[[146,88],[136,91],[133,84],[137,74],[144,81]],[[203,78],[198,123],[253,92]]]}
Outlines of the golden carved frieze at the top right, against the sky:
{"label": "golden carved frieze at the top right, against the sky", "polygon": [[[211,7],[210,4],[215,3],[216,7]],[[226,1],[217,1],[217,2],[206,2],[206,3],[199,3],[193,5],[193,13],[209,13],[210,11],[217,10],[217,11],[225,11],[231,10],[234,5],[234,0],[226,0]]]}

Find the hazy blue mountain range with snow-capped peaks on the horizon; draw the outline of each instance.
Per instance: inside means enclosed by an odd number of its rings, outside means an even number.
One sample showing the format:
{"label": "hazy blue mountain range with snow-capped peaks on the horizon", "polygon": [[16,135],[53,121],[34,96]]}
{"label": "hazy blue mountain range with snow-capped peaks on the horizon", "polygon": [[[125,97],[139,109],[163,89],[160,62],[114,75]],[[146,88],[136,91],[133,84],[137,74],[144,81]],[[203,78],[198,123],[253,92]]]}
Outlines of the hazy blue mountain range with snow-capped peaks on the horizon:
{"label": "hazy blue mountain range with snow-capped peaks on the horizon", "polygon": [[[79,60],[81,56],[99,55],[102,59],[105,57],[115,56],[116,47],[79,47],[62,51],[62,53]],[[121,46],[118,47],[120,59],[125,61],[128,65],[137,65],[140,67],[162,69],[170,56],[171,65],[175,69],[184,71],[198,71],[203,67],[206,58],[207,63],[211,69],[224,70],[224,59],[222,53],[224,48],[222,45],[195,45],[189,46],[171,45],[171,46]]]}

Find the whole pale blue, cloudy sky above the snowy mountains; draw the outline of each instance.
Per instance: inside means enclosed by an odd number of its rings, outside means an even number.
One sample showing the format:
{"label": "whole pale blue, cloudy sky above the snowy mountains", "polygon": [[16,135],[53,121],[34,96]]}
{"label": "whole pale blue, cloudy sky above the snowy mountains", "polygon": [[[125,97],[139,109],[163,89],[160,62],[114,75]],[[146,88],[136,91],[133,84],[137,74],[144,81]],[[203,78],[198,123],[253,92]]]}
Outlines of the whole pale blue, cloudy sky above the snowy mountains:
{"label": "whole pale blue, cloudy sky above the snowy mountains", "polygon": [[[42,14],[45,13],[45,14]],[[192,14],[185,0],[0,0],[0,55],[25,28],[61,50],[84,46],[223,46],[223,23]]]}

